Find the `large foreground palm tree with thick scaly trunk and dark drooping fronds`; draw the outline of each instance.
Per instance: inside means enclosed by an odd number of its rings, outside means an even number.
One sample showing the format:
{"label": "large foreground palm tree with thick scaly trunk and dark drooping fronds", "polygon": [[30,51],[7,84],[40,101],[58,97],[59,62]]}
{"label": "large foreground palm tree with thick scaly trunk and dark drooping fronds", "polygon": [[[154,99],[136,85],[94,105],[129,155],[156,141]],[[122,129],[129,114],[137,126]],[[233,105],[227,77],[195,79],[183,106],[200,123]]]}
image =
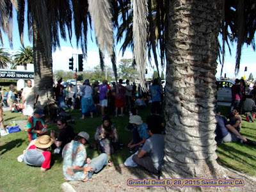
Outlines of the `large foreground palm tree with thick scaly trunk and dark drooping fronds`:
{"label": "large foreground palm tree with thick scaly trunk and dark drooping fronds", "polygon": [[[129,10],[127,6],[130,4],[129,1],[124,2],[126,9]],[[161,29],[168,31],[168,33],[161,32],[163,36],[165,35],[167,42],[163,41],[167,66],[164,111],[167,126],[166,155],[162,176],[164,178],[223,178],[223,173],[216,163],[216,141],[214,140],[216,60],[221,53],[225,54],[219,49],[218,35],[221,32],[223,42],[226,43],[228,40],[237,41],[238,70],[241,45],[252,43],[255,47],[253,42],[256,29],[255,1],[172,0],[164,2],[168,6],[165,9],[159,9],[162,15],[166,15],[163,21],[165,27],[162,26]],[[138,23],[138,20],[142,21],[140,24],[145,29],[145,22],[143,22],[145,8],[142,4],[147,3],[141,0],[133,0],[132,3],[136,4],[136,7],[132,7],[133,12],[137,8],[142,10],[138,11],[137,16],[134,13],[129,15],[131,12],[122,13],[124,24],[120,26],[120,33],[127,29],[128,37],[133,33],[133,37],[139,38],[133,38],[134,42],[125,38],[122,49],[124,50],[124,46],[127,45],[134,46],[136,63],[143,65],[145,63],[141,61],[144,61],[145,50],[136,49],[135,43],[140,41],[143,44],[140,38],[143,36],[141,32],[147,33],[147,31],[134,30],[134,26],[127,24],[127,20],[130,23],[132,20],[132,25],[135,22]],[[150,3],[151,1],[148,1],[148,4]],[[150,10],[150,6],[148,9]],[[138,18],[134,20],[134,17]],[[166,20],[168,22],[165,22]],[[139,25],[138,28],[140,28]],[[136,31],[139,33],[134,34]],[[145,72],[141,71],[142,69],[139,69],[140,72]],[[198,188],[200,189],[202,188]]]}

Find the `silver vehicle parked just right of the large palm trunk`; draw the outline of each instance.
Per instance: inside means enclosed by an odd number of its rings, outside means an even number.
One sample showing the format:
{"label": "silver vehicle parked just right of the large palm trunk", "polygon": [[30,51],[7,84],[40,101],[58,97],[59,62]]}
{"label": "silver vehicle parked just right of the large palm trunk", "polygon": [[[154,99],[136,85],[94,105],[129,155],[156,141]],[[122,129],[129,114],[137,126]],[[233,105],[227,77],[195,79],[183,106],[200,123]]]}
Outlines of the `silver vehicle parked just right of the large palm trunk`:
{"label": "silver vehicle parked just right of the large palm trunk", "polygon": [[232,102],[231,87],[235,84],[235,81],[230,80],[217,80],[218,86],[217,100],[221,102]]}

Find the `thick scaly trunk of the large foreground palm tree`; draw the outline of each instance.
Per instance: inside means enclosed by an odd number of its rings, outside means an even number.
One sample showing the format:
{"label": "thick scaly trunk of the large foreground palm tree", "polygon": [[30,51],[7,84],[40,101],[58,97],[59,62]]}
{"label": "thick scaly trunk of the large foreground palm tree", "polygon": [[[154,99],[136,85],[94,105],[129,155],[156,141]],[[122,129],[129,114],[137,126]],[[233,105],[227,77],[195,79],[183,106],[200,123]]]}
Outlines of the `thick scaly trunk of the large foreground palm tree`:
{"label": "thick scaly trunk of the large foreground palm tree", "polygon": [[170,2],[164,178],[222,174],[214,140],[220,8],[220,0]]}

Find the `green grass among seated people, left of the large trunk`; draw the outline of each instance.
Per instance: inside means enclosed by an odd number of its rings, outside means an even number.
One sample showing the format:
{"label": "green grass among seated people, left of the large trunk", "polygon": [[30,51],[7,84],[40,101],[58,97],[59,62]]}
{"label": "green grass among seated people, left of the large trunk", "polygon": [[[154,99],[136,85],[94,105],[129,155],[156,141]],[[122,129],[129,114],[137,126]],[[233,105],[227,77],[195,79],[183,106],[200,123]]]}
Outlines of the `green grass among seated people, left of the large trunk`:
{"label": "green grass among seated people, left of the large trunk", "polygon": [[[148,109],[141,111],[140,115],[144,122],[147,115],[150,113]],[[95,118],[86,118],[85,120],[79,120],[81,117],[81,111],[70,110],[68,111],[72,118],[76,120],[77,124],[72,124],[75,132],[86,131],[90,134],[90,143],[95,142],[94,134],[97,126],[102,124],[102,118],[96,116]],[[11,125],[13,120],[26,120],[26,116],[22,113],[10,113],[4,112],[4,125]],[[118,138],[121,143],[126,146],[131,141],[131,132],[124,131],[125,125],[127,125],[129,115],[124,117],[114,118],[111,116],[111,120],[117,127]],[[58,131],[56,124],[47,124],[48,130]],[[50,131],[48,131],[49,134]],[[23,150],[27,147],[28,132],[21,131],[2,136],[0,139],[0,191],[61,191],[60,185],[65,182],[62,174],[62,157],[52,154],[52,166],[50,170],[41,172],[40,168],[28,166],[26,164],[19,163],[17,157],[22,154]],[[88,157],[93,158],[98,156],[98,152],[86,145]],[[131,156],[127,147],[122,150],[118,150],[112,156],[109,156],[113,166],[124,163],[127,157]],[[106,167],[108,168],[108,167]]]}

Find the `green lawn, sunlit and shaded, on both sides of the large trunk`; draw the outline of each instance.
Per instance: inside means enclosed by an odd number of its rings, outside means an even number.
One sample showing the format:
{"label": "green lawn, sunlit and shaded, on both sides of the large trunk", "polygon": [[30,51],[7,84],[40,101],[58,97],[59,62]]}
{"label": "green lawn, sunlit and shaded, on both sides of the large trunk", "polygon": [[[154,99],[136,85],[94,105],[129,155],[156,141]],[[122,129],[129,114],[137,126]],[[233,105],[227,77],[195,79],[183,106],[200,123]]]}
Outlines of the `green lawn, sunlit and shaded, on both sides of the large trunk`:
{"label": "green lawn, sunlit and shaded, on both sides of the large trunk", "polygon": [[[222,114],[227,113],[227,108],[221,108]],[[144,122],[149,114],[149,109],[140,111]],[[79,120],[81,111],[68,111],[72,118],[76,120],[77,124],[72,124],[76,132],[86,131],[90,134],[90,142],[94,142],[93,135],[98,125],[101,124],[100,116],[95,118],[86,118]],[[5,125],[10,125],[13,120],[26,120],[26,117],[21,113],[4,112]],[[113,116],[111,116],[113,117]],[[131,133],[124,130],[127,125],[129,116],[112,118],[117,127],[119,140],[124,143],[124,148],[118,150],[109,159],[113,165],[124,163],[125,159],[131,156],[128,148],[125,147],[131,140]],[[244,120],[244,116],[243,116]],[[58,130],[56,124],[48,124],[49,130]],[[243,121],[243,129],[241,134],[256,141],[256,127],[255,123]],[[50,170],[41,172],[40,168],[27,166],[24,163],[19,163],[17,157],[22,154],[22,151],[29,143],[28,133],[26,131],[16,132],[1,137],[0,143],[0,191],[61,191],[60,185],[65,182],[62,174],[62,157],[53,154],[52,166]],[[86,145],[88,157],[97,156],[97,151]],[[256,175],[255,162],[256,150],[255,147],[242,145],[241,143],[224,143],[218,145],[217,154],[219,156],[218,163],[223,166],[239,170],[250,175]],[[108,167],[106,167],[108,168]]]}

